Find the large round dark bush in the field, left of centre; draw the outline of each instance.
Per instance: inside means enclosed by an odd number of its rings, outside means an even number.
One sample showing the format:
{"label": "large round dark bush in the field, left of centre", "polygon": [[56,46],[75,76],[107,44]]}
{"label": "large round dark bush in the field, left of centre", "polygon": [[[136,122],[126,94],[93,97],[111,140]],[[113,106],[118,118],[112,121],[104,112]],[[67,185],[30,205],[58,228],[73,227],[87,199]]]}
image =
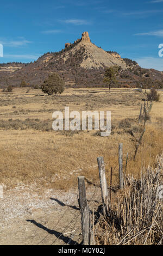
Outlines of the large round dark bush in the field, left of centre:
{"label": "large round dark bush in the field, left of centre", "polygon": [[52,95],[53,93],[62,93],[64,92],[65,82],[62,80],[62,78],[57,74],[54,73],[52,75],[49,75],[47,80],[43,82],[41,85],[41,89],[43,93],[47,93],[48,95]]}

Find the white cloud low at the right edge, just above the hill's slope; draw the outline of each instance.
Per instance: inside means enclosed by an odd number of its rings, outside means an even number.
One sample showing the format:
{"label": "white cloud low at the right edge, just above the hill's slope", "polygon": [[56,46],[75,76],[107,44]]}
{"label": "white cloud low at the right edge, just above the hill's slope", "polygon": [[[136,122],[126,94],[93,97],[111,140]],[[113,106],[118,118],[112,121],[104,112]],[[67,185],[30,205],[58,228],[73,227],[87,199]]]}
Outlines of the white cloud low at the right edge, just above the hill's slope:
{"label": "white cloud low at the right edge, just above the hill's slope", "polygon": [[135,61],[145,69],[156,69],[163,71],[163,57],[142,57],[142,58],[137,58]]}

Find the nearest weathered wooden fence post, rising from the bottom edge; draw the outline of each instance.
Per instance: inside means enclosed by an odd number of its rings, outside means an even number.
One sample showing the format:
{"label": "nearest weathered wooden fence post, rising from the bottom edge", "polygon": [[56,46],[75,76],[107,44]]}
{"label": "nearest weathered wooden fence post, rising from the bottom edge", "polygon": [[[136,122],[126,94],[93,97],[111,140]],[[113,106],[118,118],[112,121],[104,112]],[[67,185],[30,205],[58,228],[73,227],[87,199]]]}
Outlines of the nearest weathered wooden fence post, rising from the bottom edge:
{"label": "nearest weathered wooden fence post, rising from the bottom edge", "polygon": [[91,214],[87,204],[84,176],[78,177],[79,207],[82,220],[83,245],[92,245]]}

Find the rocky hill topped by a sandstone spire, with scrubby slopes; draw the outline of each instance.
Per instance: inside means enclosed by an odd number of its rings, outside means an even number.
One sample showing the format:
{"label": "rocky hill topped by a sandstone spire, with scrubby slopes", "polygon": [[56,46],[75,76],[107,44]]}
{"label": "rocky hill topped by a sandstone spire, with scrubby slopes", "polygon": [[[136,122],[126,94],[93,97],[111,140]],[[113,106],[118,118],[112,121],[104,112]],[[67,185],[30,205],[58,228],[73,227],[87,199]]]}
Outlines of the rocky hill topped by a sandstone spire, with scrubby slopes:
{"label": "rocky hill topped by a sandstone spire, with scrubby slopes", "polygon": [[154,69],[143,69],[135,61],[124,58],[113,51],[104,51],[93,44],[88,32],[73,43],[67,42],[60,52],[43,54],[35,62],[0,64],[0,86],[40,86],[45,78],[57,72],[71,87],[102,87],[106,68],[121,66],[118,75],[120,87],[163,87],[163,73]]}

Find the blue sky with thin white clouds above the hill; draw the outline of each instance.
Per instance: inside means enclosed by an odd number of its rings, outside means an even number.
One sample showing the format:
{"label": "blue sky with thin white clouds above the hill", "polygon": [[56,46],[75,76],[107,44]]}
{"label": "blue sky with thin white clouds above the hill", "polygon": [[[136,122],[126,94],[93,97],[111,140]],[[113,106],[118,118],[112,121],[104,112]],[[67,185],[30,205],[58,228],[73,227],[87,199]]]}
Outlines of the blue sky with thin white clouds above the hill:
{"label": "blue sky with thin white clouds above the hill", "polygon": [[1,1],[0,63],[33,62],[84,31],[104,50],[163,71],[163,0]]}

